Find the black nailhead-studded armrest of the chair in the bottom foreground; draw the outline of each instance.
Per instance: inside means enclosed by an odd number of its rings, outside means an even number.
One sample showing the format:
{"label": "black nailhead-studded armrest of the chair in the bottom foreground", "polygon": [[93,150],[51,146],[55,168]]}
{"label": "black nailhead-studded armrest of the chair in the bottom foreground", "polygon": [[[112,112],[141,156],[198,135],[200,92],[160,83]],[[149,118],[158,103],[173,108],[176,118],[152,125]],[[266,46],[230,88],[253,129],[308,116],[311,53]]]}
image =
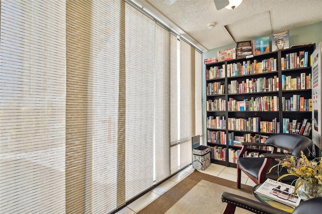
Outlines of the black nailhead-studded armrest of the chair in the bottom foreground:
{"label": "black nailhead-studded armrest of the chair in the bottom foreground", "polygon": [[247,209],[255,213],[267,213],[267,214],[287,214],[288,213],[289,214],[289,212],[275,208],[266,203],[261,203],[240,195],[229,193],[229,192],[221,193],[221,201],[236,207]]}

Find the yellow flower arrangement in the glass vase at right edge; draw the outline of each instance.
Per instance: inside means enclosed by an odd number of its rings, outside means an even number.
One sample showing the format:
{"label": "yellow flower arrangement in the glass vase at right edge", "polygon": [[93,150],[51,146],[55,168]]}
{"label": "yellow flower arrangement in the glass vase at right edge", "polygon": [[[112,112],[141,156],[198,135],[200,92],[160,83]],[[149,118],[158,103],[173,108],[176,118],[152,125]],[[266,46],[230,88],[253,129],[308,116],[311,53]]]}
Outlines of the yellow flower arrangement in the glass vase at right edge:
{"label": "yellow flower arrangement in the glass vase at right edge", "polygon": [[294,175],[299,178],[295,182],[294,193],[302,185],[308,186],[306,187],[306,191],[308,192],[308,194],[312,195],[312,197],[318,196],[322,193],[320,192],[321,190],[316,189],[316,186],[319,186],[318,189],[321,189],[322,186],[321,158],[314,158],[313,160],[309,161],[307,157],[304,155],[304,153],[301,151],[300,158],[295,156],[286,157],[283,160],[281,160],[279,164],[273,166],[270,169],[270,171],[276,166],[286,167],[288,172],[288,174],[281,175],[277,179],[278,181],[283,177],[289,175]]}

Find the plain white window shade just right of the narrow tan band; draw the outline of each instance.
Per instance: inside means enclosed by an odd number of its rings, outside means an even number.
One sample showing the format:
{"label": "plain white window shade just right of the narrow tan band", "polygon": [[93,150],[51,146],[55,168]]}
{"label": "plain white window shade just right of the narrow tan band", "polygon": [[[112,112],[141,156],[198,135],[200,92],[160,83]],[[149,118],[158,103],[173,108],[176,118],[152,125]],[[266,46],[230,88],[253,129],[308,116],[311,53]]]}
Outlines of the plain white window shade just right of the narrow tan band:
{"label": "plain white window shade just right of the narrow tan band", "polygon": [[153,185],[154,22],[126,5],[126,200]]}

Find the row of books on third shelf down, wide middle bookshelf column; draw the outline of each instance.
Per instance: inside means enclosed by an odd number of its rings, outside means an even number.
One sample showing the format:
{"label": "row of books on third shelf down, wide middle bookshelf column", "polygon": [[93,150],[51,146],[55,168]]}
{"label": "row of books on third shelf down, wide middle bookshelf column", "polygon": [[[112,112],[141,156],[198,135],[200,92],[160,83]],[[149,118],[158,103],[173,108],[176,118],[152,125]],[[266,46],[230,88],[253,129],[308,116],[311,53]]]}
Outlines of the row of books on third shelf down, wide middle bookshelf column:
{"label": "row of books on third shelf down, wide middle bookshelf column", "polygon": [[228,101],[228,111],[279,111],[278,96],[258,96],[243,101],[237,101],[230,97]]}

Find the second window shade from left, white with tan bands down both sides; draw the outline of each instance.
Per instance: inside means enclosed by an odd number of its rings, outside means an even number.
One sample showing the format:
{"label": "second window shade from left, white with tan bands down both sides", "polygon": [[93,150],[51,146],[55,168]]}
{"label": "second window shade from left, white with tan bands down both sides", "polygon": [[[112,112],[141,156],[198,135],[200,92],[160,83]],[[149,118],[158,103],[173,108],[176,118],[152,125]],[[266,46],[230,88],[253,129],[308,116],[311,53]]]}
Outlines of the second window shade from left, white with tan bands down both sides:
{"label": "second window shade from left, white with tan bands down both sides", "polygon": [[68,1],[66,212],[125,204],[125,3]]}

